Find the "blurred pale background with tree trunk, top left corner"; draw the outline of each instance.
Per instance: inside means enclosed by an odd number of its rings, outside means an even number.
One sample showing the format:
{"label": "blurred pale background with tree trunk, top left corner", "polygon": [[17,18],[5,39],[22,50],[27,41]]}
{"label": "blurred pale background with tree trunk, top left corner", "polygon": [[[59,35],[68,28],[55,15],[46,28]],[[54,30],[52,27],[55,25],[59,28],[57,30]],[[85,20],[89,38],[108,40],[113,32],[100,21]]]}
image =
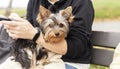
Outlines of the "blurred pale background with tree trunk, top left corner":
{"label": "blurred pale background with tree trunk, top left corner", "polygon": [[0,15],[9,16],[10,13],[17,13],[25,16],[29,0],[0,0]]}

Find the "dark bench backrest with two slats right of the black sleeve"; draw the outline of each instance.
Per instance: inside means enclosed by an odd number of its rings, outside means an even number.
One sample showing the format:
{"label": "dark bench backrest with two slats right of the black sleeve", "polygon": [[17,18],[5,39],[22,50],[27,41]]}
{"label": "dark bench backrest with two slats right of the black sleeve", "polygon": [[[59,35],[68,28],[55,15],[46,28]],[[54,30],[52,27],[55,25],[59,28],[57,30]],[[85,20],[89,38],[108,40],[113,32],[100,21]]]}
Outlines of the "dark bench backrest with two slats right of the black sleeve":
{"label": "dark bench backrest with two slats right of the black sleeve", "polygon": [[120,32],[93,31],[92,64],[109,66],[113,59],[115,47],[120,42]]}

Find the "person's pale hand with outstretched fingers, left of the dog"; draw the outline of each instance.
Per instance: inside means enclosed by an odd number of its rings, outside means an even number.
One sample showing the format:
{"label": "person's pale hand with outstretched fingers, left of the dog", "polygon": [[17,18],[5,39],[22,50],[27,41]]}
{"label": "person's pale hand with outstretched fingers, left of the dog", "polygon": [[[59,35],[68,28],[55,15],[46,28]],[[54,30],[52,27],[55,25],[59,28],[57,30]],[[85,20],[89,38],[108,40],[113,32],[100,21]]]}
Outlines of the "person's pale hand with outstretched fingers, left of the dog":
{"label": "person's pale hand with outstretched fingers, left of the dog", "polygon": [[37,30],[25,19],[13,17],[13,21],[1,21],[10,37],[32,39]]}

